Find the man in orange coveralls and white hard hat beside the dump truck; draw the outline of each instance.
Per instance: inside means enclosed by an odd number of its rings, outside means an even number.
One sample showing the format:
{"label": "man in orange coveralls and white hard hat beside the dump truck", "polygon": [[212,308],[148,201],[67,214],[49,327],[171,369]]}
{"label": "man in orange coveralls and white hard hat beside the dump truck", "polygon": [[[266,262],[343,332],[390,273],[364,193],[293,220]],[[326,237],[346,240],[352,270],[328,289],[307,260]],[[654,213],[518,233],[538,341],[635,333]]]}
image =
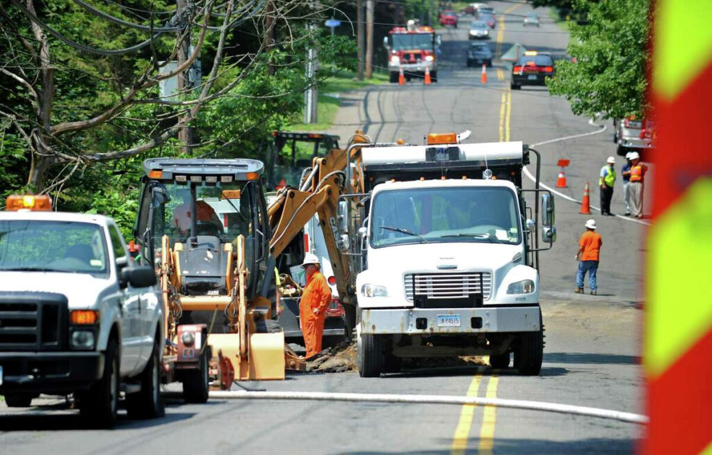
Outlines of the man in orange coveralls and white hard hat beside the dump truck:
{"label": "man in orange coveralls and white hard hat beside the dump truck", "polygon": [[331,288],[319,271],[319,258],[306,253],[302,263],[307,275],[307,286],[299,301],[299,320],[307,348],[307,360],[313,360],[321,351],[324,318],[331,303]]}

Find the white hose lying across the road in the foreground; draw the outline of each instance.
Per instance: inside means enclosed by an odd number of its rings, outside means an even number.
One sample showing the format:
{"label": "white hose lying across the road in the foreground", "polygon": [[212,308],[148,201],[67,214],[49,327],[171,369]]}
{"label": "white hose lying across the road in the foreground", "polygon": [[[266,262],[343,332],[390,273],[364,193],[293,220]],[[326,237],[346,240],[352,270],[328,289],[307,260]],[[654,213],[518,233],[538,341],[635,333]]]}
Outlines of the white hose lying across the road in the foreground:
{"label": "white hose lying across the road in the foreground", "polygon": [[647,424],[648,417],[632,412],[613,411],[596,407],[574,406],[547,402],[532,402],[523,399],[503,399],[484,397],[456,397],[452,395],[402,395],[402,394],[360,394],[338,392],[247,392],[244,390],[216,390],[210,392],[217,399],[305,399],[332,402],[374,402],[413,404],[478,404],[480,406],[530,409],[533,411],[560,412],[602,419],[614,419],[634,424]]}

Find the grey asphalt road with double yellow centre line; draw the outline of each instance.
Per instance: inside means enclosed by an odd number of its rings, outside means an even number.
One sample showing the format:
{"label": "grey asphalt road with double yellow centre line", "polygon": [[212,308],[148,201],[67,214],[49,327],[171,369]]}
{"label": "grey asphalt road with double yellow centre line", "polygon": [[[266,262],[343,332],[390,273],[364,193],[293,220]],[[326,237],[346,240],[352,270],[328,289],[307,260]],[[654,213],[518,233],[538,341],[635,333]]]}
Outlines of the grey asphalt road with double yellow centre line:
{"label": "grey asphalt road with double yellow centre line", "polygon": [[[540,28],[525,29],[521,15],[530,6],[491,3],[500,13],[508,10],[489,41],[497,57],[515,42],[562,55],[568,36],[545,11],[538,11]],[[467,22],[442,31],[438,83],[424,86],[413,80],[404,87],[381,85],[348,94],[330,132],[347,138],[362,127],[375,140],[419,143],[428,132],[470,129],[472,142],[538,144],[597,130],[545,88],[512,92],[509,67],[497,60],[482,85],[480,68],[465,66]],[[603,125],[607,130],[597,135],[536,147],[542,154],[542,182],[553,187],[557,159],[571,159],[569,187],[560,192],[580,199],[584,183],[591,182],[592,204],[597,205],[599,169],[614,155],[612,125]],[[565,199],[556,203],[558,240],[540,254],[547,345],[539,377],[455,367],[378,379],[362,379],[355,372],[291,375],[283,382],[245,385],[274,391],[470,394],[642,413],[639,264],[644,225],[597,212],[580,215],[580,206]],[[620,186],[612,207],[622,213]],[[596,219],[604,243],[598,296],[573,292],[577,239],[589,217]],[[113,431],[87,431],[65,403],[39,399],[35,404],[20,411],[0,404],[0,453],[629,453],[642,435],[635,424],[514,409],[216,399],[205,405],[167,399],[163,419],[131,421],[122,414]]]}

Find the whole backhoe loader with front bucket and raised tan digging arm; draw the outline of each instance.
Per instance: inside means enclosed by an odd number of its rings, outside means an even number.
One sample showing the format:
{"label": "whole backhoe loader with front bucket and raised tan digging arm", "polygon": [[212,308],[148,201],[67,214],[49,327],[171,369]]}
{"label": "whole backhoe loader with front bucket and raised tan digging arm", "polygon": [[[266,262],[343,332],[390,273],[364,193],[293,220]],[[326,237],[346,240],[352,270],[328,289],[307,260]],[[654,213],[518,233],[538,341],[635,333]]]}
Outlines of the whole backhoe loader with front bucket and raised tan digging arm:
{"label": "whole backhoe loader with front bucket and raised tan digging arm", "polygon": [[363,187],[355,145],[368,141],[358,132],[348,152],[314,157],[300,186],[281,188],[270,206],[264,164],[256,159],[144,162],[133,249],[159,275],[162,380],[182,382],[186,401],[204,402],[211,385],[229,389],[236,380],[283,380],[286,370],[305,370],[276,320],[276,258],[313,216],[354,327],[355,277],[340,251],[337,213],[342,195]]}

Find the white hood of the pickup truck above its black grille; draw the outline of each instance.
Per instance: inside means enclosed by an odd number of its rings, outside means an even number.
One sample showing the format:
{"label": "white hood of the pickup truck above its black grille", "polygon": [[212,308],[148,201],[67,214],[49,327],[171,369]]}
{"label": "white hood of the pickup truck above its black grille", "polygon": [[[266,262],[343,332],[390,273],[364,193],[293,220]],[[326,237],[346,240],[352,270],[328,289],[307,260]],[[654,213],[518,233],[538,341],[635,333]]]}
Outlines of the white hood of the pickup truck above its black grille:
{"label": "white hood of the pickup truck above its black grille", "polygon": [[88,273],[0,272],[0,292],[51,292],[66,296],[70,308],[95,305],[105,293],[118,291],[109,278]]}

